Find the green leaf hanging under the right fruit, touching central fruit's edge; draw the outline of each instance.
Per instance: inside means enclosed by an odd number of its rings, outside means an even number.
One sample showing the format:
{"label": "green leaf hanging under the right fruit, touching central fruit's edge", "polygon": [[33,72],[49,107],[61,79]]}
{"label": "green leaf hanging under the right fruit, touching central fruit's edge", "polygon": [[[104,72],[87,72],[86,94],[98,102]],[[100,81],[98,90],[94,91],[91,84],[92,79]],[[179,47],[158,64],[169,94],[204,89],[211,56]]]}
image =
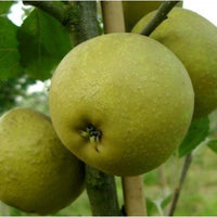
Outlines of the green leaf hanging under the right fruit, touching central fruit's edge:
{"label": "green leaf hanging under the right fruit, touching central fruit's edge", "polygon": [[205,138],[209,131],[209,119],[203,117],[191,123],[189,131],[179,146],[179,156],[184,156],[194,150]]}

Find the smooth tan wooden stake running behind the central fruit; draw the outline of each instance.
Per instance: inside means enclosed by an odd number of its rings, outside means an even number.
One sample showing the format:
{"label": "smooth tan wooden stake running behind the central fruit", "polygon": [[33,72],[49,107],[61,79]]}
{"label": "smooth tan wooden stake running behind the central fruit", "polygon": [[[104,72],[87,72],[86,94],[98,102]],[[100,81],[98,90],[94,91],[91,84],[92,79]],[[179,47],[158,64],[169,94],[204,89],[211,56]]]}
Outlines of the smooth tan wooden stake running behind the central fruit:
{"label": "smooth tan wooden stake running behind the central fruit", "polygon": [[[123,5],[120,1],[102,1],[102,15],[104,31],[124,33],[125,23]],[[143,192],[142,176],[123,177],[123,191],[125,201],[125,213],[127,216],[145,216],[145,200]]]}

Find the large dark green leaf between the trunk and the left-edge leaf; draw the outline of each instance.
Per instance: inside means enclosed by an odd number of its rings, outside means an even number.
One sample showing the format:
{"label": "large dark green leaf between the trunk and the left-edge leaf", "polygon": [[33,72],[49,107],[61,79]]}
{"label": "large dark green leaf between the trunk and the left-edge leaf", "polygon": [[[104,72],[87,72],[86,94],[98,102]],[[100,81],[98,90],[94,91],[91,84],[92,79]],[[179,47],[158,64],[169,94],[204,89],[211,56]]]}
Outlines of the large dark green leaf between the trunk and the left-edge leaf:
{"label": "large dark green leaf between the trunk and the left-edge leaf", "polygon": [[33,78],[44,80],[72,49],[69,34],[49,14],[35,9],[18,30],[22,65]]}

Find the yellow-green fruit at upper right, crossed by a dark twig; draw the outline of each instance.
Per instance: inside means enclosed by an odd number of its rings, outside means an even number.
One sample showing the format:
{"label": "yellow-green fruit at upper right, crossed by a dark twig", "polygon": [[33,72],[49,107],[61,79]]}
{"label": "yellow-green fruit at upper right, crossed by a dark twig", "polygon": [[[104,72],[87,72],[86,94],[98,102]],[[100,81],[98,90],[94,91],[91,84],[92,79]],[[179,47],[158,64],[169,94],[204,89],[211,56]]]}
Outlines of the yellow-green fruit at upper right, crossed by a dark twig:
{"label": "yellow-green fruit at upper right, crossed by a dark twig", "polygon": [[[154,15],[144,16],[132,29],[139,33]],[[151,37],[169,48],[186,66],[195,93],[194,118],[217,107],[217,28],[201,15],[173,9]]]}

